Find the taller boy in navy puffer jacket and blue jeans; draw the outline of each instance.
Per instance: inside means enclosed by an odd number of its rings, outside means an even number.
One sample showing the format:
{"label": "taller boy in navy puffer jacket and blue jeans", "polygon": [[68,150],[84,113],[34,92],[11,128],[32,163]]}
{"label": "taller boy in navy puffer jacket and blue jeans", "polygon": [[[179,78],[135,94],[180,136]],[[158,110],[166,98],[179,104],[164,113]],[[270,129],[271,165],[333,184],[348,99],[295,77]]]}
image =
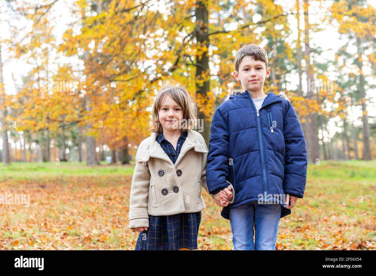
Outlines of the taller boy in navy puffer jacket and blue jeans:
{"label": "taller boy in navy puffer jacket and blue jeans", "polygon": [[240,48],[233,76],[244,92],[233,92],[212,119],[206,183],[214,196],[228,182],[234,187],[233,202],[221,212],[230,220],[234,250],[275,250],[279,219],[305,190],[302,127],[283,92],[264,94],[269,75],[264,49]]}

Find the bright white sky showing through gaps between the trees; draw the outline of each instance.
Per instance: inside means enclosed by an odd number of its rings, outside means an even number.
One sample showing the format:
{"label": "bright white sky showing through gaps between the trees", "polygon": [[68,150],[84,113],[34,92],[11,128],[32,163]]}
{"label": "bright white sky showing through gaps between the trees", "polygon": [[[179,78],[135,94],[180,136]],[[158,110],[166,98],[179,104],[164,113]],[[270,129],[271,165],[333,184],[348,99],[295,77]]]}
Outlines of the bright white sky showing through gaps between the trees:
{"label": "bright white sky showing through gaps between the trees", "polygon": [[[51,18],[50,22],[52,22],[52,24],[54,24],[55,26],[54,34],[58,38],[58,42],[61,41],[62,34],[64,33],[65,29],[67,29],[67,24],[69,24],[73,20],[73,18],[71,17],[73,2],[74,0],[64,0],[64,1],[60,0],[53,6],[52,17],[56,19]],[[328,6],[331,5],[331,2],[332,1],[326,1]],[[164,10],[163,3],[164,1],[160,1],[158,7],[155,7],[155,9],[158,9],[159,11],[163,12]],[[293,8],[296,1],[295,0],[276,0],[275,3],[282,5],[284,9],[287,11],[288,9]],[[314,20],[318,20],[321,13],[320,11],[318,11],[317,7],[315,7],[315,3],[318,3],[318,2],[310,1],[310,3],[312,5],[310,6],[309,13],[317,14],[317,15],[309,15],[310,21],[312,21],[313,23]],[[373,6],[376,6],[376,3],[372,0],[368,0],[368,3],[370,3]],[[6,18],[7,16],[9,15],[5,14],[5,17],[3,17],[3,21],[9,19],[9,18]],[[253,20],[259,21],[261,20],[261,16],[255,15],[253,17]],[[290,24],[290,28],[294,30],[294,32],[289,38],[291,41],[296,40],[297,38],[296,24],[297,23],[296,23],[295,17],[293,15],[288,17],[288,22]],[[20,24],[23,24],[23,23],[20,23]],[[236,29],[237,26],[230,24],[229,26],[226,26],[226,27],[228,27],[229,29]],[[300,27],[301,29],[304,29],[303,17],[301,17],[301,20],[300,20]],[[11,35],[5,23],[0,25],[0,28],[2,30],[1,36],[3,38],[9,37]],[[320,33],[314,33],[311,37],[312,48],[315,48],[316,46],[320,46],[325,50],[324,53],[321,54],[320,56],[320,59],[319,59],[320,62],[325,59],[334,59],[335,51],[345,43],[344,40],[340,39],[340,35],[335,31],[333,27],[323,26],[323,28],[325,29],[324,31]],[[260,46],[264,46],[266,42],[267,41],[265,41],[265,43],[262,43]],[[347,50],[349,53],[355,54],[357,52],[356,47],[350,47]],[[4,72],[5,90],[7,94],[14,94],[16,92],[16,87],[15,87],[14,81],[12,80],[12,74],[16,80],[16,83],[21,85],[22,84],[21,76],[25,75],[31,68],[25,63],[20,62],[18,60],[8,60],[7,53],[4,50],[2,51],[2,54],[3,54],[3,63],[4,63],[3,72]],[[55,56],[56,56],[55,53],[52,53],[52,58],[51,58],[52,61]],[[215,68],[214,65],[211,66],[211,68]],[[56,63],[51,63],[51,67],[49,69],[57,70],[58,65],[56,65]],[[220,68],[216,68],[216,69],[219,70]],[[368,68],[368,66],[364,66],[363,71],[367,75],[370,73],[370,68]],[[291,84],[287,86],[287,90],[296,89],[298,81],[299,81],[297,73],[292,71],[291,74],[288,74],[286,77],[287,77],[287,80],[291,81]],[[329,78],[334,80],[335,72],[329,74]],[[366,77],[366,80],[368,80],[369,83],[371,83],[372,81],[375,82],[374,79],[369,80],[369,78],[370,77]],[[306,87],[305,79],[303,79],[303,87]],[[369,104],[367,107],[367,112],[369,116],[376,116],[376,108],[375,108],[376,98],[375,98],[374,92],[375,91],[371,91],[371,90],[367,91],[368,97],[370,97],[373,101],[373,103]],[[357,107],[355,109],[353,108],[353,110],[349,108],[349,115],[350,115],[350,120],[355,121],[354,123],[355,125],[359,126],[361,124],[360,117],[362,115],[362,112],[361,112],[360,107]],[[329,126],[330,126],[329,137],[333,135],[335,131],[338,131],[338,132],[341,131],[340,128],[335,127],[335,121],[339,121],[339,118],[332,118],[331,122],[329,122]]]}

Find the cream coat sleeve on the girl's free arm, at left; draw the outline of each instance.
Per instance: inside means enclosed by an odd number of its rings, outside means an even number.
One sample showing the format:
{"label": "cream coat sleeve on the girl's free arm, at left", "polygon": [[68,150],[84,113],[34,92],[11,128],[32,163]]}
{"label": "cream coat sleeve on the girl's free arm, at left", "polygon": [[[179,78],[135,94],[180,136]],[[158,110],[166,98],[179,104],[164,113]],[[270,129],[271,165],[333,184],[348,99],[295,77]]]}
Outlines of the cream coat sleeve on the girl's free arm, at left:
{"label": "cream coat sleeve on the girl's free arm, at left", "polygon": [[136,166],[132,177],[129,199],[129,228],[149,228],[149,215],[147,213],[147,198],[150,187],[150,171],[147,162],[138,162],[136,153]]}

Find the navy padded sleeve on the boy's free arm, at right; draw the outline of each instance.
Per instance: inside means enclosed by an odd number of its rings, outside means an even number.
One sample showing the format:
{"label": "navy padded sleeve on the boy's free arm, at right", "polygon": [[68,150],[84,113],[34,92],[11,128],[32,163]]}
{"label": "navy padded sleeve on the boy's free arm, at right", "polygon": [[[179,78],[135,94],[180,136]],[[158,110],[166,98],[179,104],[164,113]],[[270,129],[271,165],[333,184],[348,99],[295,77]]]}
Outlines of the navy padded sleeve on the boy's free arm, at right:
{"label": "navy padded sleeve on the boy's free arm, at right", "polygon": [[285,177],[283,190],[285,194],[303,198],[307,180],[307,148],[302,125],[296,112],[288,102],[284,116],[285,138]]}

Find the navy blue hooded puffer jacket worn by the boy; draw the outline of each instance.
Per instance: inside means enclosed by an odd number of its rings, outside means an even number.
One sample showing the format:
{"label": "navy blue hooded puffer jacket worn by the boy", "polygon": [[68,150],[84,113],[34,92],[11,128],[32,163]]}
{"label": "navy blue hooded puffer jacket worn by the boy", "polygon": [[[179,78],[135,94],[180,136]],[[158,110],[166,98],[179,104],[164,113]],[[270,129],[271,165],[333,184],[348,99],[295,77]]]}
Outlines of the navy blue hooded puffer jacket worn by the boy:
{"label": "navy blue hooded puffer jacket worn by the boy", "polygon": [[[303,198],[307,151],[302,126],[286,97],[268,93],[259,111],[246,90],[233,93],[214,112],[206,165],[206,184],[215,194],[230,182],[235,200],[221,216],[261,196]],[[270,195],[269,195],[270,194]],[[277,195],[277,196],[275,196]],[[269,198],[270,199],[270,198]],[[281,216],[291,214],[282,206]]]}

